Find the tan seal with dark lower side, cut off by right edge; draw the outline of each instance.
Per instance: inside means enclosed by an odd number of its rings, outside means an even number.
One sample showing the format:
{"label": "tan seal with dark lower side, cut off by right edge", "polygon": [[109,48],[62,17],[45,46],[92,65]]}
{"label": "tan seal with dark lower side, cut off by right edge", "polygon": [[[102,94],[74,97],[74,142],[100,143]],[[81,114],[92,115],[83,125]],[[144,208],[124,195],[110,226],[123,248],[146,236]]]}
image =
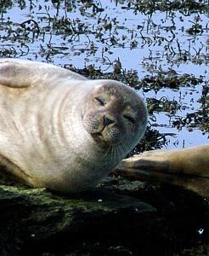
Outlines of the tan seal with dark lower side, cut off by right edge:
{"label": "tan seal with dark lower side, cut off by right edge", "polygon": [[114,173],[178,185],[209,198],[209,145],[135,154],[122,160]]}

